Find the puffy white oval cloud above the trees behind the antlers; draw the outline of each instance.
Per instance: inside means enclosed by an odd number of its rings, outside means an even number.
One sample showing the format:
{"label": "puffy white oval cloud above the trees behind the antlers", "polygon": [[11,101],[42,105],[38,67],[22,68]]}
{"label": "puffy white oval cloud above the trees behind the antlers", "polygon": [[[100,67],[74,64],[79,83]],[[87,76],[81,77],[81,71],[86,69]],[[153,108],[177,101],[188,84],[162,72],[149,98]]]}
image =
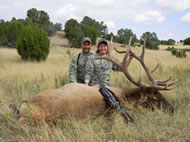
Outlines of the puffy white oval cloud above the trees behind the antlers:
{"label": "puffy white oval cloud above the trees behind the antlers", "polygon": [[159,11],[145,11],[144,13],[138,14],[134,18],[134,22],[138,24],[152,24],[161,23],[165,20],[165,17]]}

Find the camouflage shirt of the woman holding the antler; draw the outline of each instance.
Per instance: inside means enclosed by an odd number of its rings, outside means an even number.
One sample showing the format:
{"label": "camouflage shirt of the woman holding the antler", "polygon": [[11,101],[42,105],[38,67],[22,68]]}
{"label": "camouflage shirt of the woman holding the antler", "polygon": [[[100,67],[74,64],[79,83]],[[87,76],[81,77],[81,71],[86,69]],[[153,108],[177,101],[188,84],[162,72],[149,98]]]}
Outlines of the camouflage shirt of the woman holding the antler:
{"label": "camouflage shirt of the woman holding the antler", "polygon": [[99,54],[94,54],[88,58],[85,68],[85,82],[88,82],[90,86],[97,85],[96,78],[98,78],[101,83],[111,86],[111,70],[121,71],[121,69],[120,67],[106,59],[94,59],[99,56]]}

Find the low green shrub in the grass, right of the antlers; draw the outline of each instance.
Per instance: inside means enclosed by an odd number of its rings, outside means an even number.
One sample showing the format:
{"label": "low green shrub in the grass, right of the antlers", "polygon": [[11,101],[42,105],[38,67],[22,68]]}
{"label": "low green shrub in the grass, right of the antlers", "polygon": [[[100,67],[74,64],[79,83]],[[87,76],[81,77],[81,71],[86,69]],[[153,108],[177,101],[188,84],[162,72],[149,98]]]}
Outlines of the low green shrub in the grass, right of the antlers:
{"label": "low green shrub in the grass, right of the antlers", "polygon": [[174,47],[168,47],[169,51],[171,51],[172,55],[176,56],[177,58],[186,58],[186,50],[184,49],[176,49]]}

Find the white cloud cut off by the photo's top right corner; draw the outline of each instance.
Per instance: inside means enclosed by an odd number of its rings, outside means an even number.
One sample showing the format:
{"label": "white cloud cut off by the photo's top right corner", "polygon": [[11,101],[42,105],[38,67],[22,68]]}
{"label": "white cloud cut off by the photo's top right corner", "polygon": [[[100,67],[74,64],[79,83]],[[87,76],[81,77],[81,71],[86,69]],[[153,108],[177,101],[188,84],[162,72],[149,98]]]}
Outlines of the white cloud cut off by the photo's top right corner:
{"label": "white cloud cut off by the photo's top right corner", "polygon": [[190,0],[156,0],[156,5],[165,11],[183,11],[190,8]]}

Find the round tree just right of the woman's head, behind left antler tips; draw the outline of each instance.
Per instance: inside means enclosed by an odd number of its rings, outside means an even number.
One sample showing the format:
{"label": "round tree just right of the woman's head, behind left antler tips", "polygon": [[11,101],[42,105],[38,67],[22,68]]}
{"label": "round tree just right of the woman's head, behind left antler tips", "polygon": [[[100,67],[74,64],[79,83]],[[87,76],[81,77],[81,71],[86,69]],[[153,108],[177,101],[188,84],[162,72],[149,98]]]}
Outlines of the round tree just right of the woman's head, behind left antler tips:
{"label": "round tree just right of the woman's head, behind left antler tips", "polygon": [[128,44],[131,36],[133,37],[131,45],[133,45],[137,40],[137,37],[133,31],[131,29],[119,29],[117,31],[116,41],[120,44]]}

